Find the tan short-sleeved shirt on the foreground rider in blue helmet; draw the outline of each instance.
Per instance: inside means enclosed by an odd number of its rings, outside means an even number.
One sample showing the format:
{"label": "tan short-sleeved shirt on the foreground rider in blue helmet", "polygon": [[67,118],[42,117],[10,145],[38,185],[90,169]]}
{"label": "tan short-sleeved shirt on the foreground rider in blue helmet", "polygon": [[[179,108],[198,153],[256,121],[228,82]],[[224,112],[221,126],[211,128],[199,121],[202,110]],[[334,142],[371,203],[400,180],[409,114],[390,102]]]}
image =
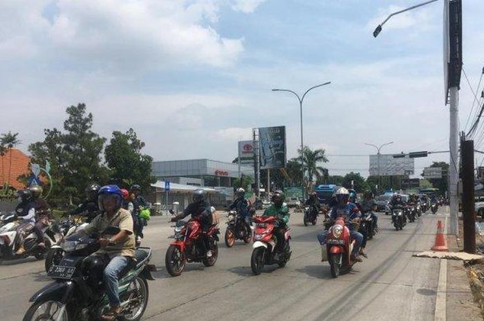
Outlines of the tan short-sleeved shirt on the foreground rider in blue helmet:
{"label": "tan short-sleeved shirt on the foreground rider in blue helmet", "polygon": [[[118,243],[116,245],[106,245],[103,246],[99,251],[96,253],[107,254],[110,257],[116,255],[123,255],[123,256],[134,256],[134,249],[135,249],[135,239],[133,233],[133,217],[129,211],[125,210],[124,208],[120,208],[118,213],[116,213],[113,217],[109,218],[106,213],[102,213],[97,215],[92,222],[84,228],[84,233],[91,234],[91,233],[102,233],[104,229],[108,226],[117,226],[124,231],[128,231],[129,235],[124,242]],[[114,235],[102,235],[103,237],[112,237]]]}

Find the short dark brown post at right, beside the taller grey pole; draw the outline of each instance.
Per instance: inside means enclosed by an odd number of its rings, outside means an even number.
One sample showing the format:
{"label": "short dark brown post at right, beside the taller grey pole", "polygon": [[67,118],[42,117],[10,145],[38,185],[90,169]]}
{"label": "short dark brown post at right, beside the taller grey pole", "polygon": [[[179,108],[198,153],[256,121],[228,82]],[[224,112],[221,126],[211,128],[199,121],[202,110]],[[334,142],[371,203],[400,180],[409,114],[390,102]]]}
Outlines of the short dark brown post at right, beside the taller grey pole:
{"label": "short dark brown post at right, beside the taller grey pole", "polygon": [[[463,135],[465,137],[465,135]],[[464,252],[476,253],[476,216],[474,204],[474,141],[460,142],[462,157],[462,213],[464,227]]]}

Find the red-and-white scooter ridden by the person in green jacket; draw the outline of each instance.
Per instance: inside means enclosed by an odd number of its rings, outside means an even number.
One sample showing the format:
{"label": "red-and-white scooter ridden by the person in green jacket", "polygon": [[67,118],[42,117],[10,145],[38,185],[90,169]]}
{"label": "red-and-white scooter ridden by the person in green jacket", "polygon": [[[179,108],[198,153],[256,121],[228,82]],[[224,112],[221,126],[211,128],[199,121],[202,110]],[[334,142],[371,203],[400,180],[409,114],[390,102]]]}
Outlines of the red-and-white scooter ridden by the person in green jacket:
{"label": "red-and-white scooter ridden by the person in green jacket", "polygon": [[257,216],[254,217],[255,234],[254,244],[252,245],[252,256],[250,257],[250,267],[254,275],[261,274],[264,265],[277,264],[284,267],[290,260],[290,230],[286,229],[284,238],[286,240],[284,249],[281,253],[274,251],[277,247],[276,235],[274,235],[274,224],[279,220],[275,216]]}

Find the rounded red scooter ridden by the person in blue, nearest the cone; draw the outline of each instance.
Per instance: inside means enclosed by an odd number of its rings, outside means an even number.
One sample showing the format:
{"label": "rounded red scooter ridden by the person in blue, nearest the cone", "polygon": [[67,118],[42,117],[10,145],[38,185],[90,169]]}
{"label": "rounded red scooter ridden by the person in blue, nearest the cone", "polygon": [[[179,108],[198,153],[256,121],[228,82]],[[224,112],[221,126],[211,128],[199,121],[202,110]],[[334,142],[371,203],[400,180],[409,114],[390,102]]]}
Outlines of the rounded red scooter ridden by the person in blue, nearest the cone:
{"label": "rounded red scooter ridden by the person in blue, nearest the cone", "polygon": [[340,272],[350,271],[355,264],[350,259],[355,243],[355,240],[350,239],[350,230],[345,225],[344,217],[338,217],[328,229],[326,251],[322,250],[322,260],[328,261],[333,278],[337,278]]}

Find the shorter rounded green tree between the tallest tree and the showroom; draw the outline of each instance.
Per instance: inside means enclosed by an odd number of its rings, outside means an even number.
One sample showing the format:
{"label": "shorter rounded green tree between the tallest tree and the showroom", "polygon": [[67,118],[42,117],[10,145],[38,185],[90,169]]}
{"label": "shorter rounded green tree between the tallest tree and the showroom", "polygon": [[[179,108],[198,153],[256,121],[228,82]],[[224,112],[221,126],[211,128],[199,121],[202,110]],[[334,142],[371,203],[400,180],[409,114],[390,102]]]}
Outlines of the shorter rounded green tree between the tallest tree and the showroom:
{"label": "shorter rounded green tree between the tallest tree and the showroom", "polygon": [[151,189],[151,183],[156,182],[151,176],[153,158],[141,153],[145,143],[138,139],[133,128],[126,133],[114,131],[113,137],[104,150],[106,164],[111,170],[111,182],[129,188],[131,184],[139,184],[143,191]]}

